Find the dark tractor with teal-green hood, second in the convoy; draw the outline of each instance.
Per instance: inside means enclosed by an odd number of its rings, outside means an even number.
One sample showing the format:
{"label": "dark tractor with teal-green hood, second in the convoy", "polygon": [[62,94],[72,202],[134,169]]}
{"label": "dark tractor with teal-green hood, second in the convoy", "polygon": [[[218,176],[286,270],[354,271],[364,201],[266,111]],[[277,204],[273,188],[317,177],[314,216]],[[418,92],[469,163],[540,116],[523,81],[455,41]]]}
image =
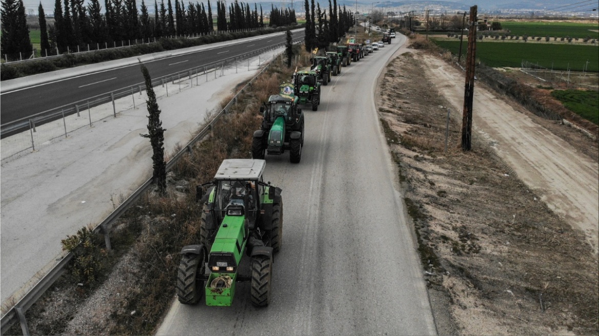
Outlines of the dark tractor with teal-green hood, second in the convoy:
{"label": "dark tractor with teal-green hood, second in the convoy", "polygon": [[254,132],[252,158],[264,159],[265,153],[281,155],[289,150],[289,161],[299,163],[304,146],[304,114],[298,107],[294,85],[285,83],[280,93],[268,97],[260,107],[262,125]]}

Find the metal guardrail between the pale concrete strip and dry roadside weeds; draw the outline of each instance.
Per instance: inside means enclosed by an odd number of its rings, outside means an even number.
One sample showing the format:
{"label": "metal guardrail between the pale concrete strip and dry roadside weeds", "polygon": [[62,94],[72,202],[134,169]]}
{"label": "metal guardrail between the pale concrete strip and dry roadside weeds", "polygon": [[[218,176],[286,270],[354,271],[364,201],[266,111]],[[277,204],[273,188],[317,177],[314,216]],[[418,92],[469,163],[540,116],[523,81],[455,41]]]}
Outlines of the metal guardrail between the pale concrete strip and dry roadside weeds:
{"label": "metal guardrail between the pale concrete strip and dry roadside weeds", "polygon": [[[299,42],[301,41],[296,41],[294,42],[294,44],[297,44]],[[214,124],[216,124],[216,122],[228,112],[228,109],[231,108],[232,105],[237,103],[237,97],[241,93],[243,93],[250,85],[252,85],[252,83],[256,81],[256,79],[260,77],[260,75],[262,75],[262,73],[264,73],[270,67],[272,62],[273,61],[268,62],[267,65],[265,65],[264,69],[262,69],[262,71],[260,71],[255,77],[253,77],[246,85],[244,85],[244,87],[241,88],[241,90],[237,94],[235,94],[234,97],[232,97],[231,101],[229,101],[229,103],[224,108],[222,108],[217,115],[214,116],[213,120],[210,121],[210,123],[208,123],[208,125],[204,127],[204,129],[201,130],[198,133],[198,135],[196,135],[192,140],[190,140],[190,142],[187,143],[187,145],[184,146],[183,149],[177,152],[177,154],[175,154],[173,158],[171,158],[171,160],[168,161],[166,166],[167,172],[173,168],[174,164],[176,164],[177,161],[179,161],[180,158],[183,157],[184,154],[186,154],[186,152],[191,151],[191,147],[196,142],[203,139],[208,133],[210,133]],[[140,197],[144,193],[146,193],[146,191],[150,190],[152,185],[153,178],[150,178],[143,185],[141,185],[140,188],[135,190],[135,192],[131,194],[131,196],[129,196],[125,201],[123,201],[123,203],[120,204],[112,213],[110,213],[110,215],[108,215],[107,218],[104,219],[104,221],[102,221],[96,228],[94,228],[93,232],[104,234],[104,240],[107,249],[111,249],[109,235],[110,225],[113,224],[114,221],[116,221],[120,216],[122,216],[126,212],[126,210],[129,209],[129,207],[131,207],[136,201],[138,201]],[[29,335],[27,320],[25,319],[25,312],[31,306],[33,306],[33,304],[41,297],[41,295],[43,295],[44,292],[46,292],[47,289],[53,285],[53,283],[60,277],[60,275],[62,275],[62,273],[65,271],[64,267],[68,264],[69,261],[71,261],[72,257],[73,253],[69,252],[64,258],[62,258],[58,262],[58,264],[55,265],[55,267],[52,268],[52,270],[49,271],[48,274],[46,274],[46,276],[44,276],[40,280],[40,282],[38,282],[27,294],[25,294],[25,296],[23,296],[23,298],[21,298],[12,308],[10,308],[10,310],[8,310],[8,312],[4,314],[4,316],[2,316],[2,318],[0,319],[1,335],[4,335],[4,333],[7,332],[8,329],[10,329],[11,326],[13,326],[15,322],[17,322],[17,320],[20,322],[23,335]]]}

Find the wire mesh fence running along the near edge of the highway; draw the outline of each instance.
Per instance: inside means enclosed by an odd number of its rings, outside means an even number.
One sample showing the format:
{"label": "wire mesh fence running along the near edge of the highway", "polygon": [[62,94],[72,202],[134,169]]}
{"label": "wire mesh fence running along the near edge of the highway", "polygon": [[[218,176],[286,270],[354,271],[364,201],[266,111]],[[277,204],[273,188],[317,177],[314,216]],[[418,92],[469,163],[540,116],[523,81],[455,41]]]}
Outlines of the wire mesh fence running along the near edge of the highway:
{"label": "wire mesh fence running along the near edge of the highway", "polygon": [[[260,54],[282,45],[284,44],[271,45],[241,56],[229,57],[219,62],[153,78],[152,85],[158,89],[157,94],[169,96],[175,91],[225,75],[226,67],[243,67],[246,60],[249,69],[251,57],[261,57]],[[259,58],[258,68],[261,63],[262,60]],[[75,130],[84,127],[92,129],[95,123],[107,117],[117,118],[120,112],[137,109],[137,106],[147,99],[145,90],[144,83],[137,83],[4,124],[0,126],[0,138],[2,138],[0,160],[5,161],[19,157],[19,154],[27,151],[39,150],[55,139],[68,138]]]}

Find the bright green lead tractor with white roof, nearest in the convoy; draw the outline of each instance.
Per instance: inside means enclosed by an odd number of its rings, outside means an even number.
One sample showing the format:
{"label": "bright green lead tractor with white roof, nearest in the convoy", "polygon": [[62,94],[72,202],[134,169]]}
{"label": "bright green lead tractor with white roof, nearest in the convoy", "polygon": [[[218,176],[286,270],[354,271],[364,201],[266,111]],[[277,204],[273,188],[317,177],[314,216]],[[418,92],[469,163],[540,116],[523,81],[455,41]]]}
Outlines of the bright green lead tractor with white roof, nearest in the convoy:
{"label": "bright green lead tractor with white roof, nearest in the convoy", "polygon": [[283,201],[280,188],[264,183],[265,166],[264,160],[224,160],[212,182],[196,187],[204,206],[200,242],[180,252],[180,303],[196,304],[205,294],[207,306],[231,306],[235,283],[251,282],[252,304],[268,306],[273,253],[283,242]]}

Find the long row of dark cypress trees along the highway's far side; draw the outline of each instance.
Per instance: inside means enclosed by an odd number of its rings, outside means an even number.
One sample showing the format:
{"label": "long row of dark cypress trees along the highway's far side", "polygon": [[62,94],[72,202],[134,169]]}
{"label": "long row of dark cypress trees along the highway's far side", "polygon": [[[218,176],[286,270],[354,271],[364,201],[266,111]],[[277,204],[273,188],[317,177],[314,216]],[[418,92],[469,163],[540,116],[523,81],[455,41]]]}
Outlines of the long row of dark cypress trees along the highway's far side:
{"label": "long row of dark cypress trees along the highway's far side", "polygon": [[[74,51],[77,48],[97,49],[129,44],[129,41],[152,41],[167,36],[206,35],[214,33],[214,19],[210,0],[154,0],[155,13],[150,14],[146,0],[138,10],[136,0],[56,0],[53,25],[47,25],[44,8],[39,7],[40,47],[45,56]],[[151,1],[151,0],[149,0]],[[262,6],[235,0],[229,7],[223,0],[216,1],[216,29],[220,32],[264,28]],[[270,26],[297,23],[294,10],[271,8]],[[19,53],[32,53],[29,28],[26,23],[23,0],[2,1],[2,54],[18,59]],[[123,42],[124,41],[124,42]],[[119,43],[120,42],[120,43]],[[133,43],[133,42],[131,42]]]}

